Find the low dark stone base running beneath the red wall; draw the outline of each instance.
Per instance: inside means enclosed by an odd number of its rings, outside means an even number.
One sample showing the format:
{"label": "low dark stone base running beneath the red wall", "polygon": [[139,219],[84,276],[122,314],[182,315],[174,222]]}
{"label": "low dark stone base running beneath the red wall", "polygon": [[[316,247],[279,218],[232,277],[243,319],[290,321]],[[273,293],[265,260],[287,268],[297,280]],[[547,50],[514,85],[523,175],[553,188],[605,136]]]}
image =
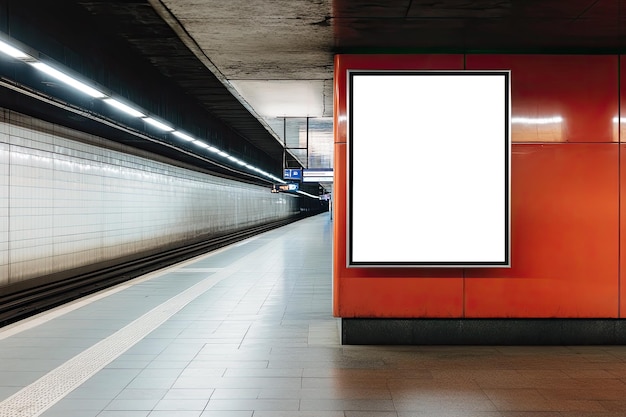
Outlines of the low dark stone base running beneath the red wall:
{"label": "low dark stone base running beneath the red wall", "polygon": [[622,345],[620,319],[342,319],[345,345]]}

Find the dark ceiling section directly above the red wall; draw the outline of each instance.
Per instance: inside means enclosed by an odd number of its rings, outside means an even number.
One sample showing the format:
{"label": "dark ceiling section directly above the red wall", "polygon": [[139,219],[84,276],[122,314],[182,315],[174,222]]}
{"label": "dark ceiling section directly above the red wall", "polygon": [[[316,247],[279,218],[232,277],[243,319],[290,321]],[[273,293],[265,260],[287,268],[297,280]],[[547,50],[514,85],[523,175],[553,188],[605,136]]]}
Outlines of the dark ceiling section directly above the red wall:
{"label": "dark ceiling section directly above the red wall", "polygon": [[333,2],[337,51],[621,52],[622,0]]}

